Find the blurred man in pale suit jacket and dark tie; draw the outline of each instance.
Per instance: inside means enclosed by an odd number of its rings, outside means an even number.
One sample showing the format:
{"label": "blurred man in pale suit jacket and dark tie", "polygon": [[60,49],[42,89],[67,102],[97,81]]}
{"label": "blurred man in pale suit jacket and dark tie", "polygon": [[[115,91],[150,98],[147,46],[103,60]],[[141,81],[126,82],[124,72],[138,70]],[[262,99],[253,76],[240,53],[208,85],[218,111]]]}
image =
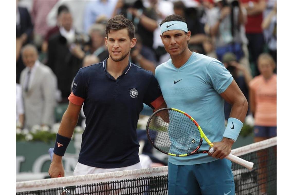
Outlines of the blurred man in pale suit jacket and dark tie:
{"label": "blurred man in pale suit jacket and dark tie", "polygon": [[22,59],[26,66],[20,77],[24,127],[30,130],[33,125],[51,126],[54,123],[57,77],[48,66],[38,61],[38,50],[34,45],[23,47]]}

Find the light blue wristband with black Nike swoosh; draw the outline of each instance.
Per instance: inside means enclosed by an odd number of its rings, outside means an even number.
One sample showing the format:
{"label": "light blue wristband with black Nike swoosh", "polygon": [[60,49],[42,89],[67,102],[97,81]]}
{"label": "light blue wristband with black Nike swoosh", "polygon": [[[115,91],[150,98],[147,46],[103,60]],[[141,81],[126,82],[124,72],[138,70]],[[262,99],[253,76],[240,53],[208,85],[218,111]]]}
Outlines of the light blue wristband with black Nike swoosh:
{"label": "light blue wristband with black Nike swoosh", "polygon": [[228,118],[228,123],[223,137],[230,138],[236,141],[242,127],[243,123],[237,118]]}

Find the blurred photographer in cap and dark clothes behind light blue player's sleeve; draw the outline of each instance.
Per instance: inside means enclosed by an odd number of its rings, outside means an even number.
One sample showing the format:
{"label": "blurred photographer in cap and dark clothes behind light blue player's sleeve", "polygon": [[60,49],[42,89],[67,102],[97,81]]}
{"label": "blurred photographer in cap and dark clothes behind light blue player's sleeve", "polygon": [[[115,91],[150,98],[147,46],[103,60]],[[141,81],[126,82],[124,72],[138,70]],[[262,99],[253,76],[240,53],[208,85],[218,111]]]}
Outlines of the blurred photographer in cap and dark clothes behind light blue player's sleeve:
{"label": "blurred photographer in cap and dark clothes behind light blue player's sleeve", "polygon": [[[231,73],[232,77],[236,81],[237,85],[241,89],[241,92],[244,94],[248,101],[248,91],[249,91],[249,82],[252,80],[252,75],[250,71],[246,68],[246,66],[242,65],[237,61],[237,57],[235,54],[231,52],[227,52],[224,54],[222,62],[227,70]],[[225,101],[224,104],[224,113],[225,120],[228,120],[231,112],[231,104]],[[246,115],[249,113],[249,108]]]}

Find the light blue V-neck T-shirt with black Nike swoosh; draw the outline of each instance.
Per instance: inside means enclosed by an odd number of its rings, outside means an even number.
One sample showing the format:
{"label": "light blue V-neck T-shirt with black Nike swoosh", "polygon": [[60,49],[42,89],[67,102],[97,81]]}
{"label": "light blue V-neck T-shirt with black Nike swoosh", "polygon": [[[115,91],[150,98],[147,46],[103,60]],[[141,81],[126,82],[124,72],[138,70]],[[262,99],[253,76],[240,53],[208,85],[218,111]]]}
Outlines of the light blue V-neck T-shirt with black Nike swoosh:
{"label": "light blue V-neck T-shirt with black Nike swoosh", "polygon": [[[156,68],[168,108],[177,108],[193,117],[211,142],[221,141],[225,130],[224,99],[220,96],[233,81],[224,65],[202,54],[193,52],[188,61],[176,68],[172,60]],[[199,150],[208,150],[205,140]],[[175,165],[193,165],[217,160],[207,154],[186,157],[169,156]]]}

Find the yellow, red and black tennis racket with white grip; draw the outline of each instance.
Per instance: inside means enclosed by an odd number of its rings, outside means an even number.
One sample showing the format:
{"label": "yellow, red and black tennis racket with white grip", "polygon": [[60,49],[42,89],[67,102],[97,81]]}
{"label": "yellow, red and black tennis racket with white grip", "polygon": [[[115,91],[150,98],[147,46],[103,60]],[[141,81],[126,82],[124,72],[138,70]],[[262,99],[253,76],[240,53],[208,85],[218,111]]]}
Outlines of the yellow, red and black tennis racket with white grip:
{"label": "yellow, red and black tennis racket with white grip", "polygon": [[[154,148],[171,156],[208,153],[208,150],[198,151],[202,138],[213,147],[198,123],[176,108],[162,108],[154,112],[147,122],[147,137]],[[253,168],[252,162],[232,154],[225,158],[250,170]]]}

